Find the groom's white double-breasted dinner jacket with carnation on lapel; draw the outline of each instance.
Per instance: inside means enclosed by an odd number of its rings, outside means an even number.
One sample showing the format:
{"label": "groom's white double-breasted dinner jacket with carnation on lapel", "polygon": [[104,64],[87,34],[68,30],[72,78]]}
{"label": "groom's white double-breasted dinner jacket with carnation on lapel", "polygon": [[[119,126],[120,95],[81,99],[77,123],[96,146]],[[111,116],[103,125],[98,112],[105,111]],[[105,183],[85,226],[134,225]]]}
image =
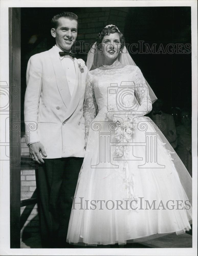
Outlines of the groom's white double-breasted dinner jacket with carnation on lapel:
{"label": "groom's white double-breasted dinner jacket with carnation on lapel", "polygon": [[74,66],[76,82],[71,96],[54,46],[31,56],[28,61],[24,102],[26,141],[40,141],[46,158],[84,157],[83,101],[87,67],[81,69],[77,59]]}

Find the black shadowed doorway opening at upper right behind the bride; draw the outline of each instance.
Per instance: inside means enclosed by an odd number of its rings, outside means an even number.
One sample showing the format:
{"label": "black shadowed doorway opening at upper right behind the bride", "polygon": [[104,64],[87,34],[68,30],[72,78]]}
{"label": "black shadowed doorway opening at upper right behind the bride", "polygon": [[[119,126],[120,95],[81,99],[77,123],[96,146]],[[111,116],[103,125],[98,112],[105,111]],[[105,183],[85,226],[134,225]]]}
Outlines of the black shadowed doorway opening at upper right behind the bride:
{"label": "black shadowed doorway opening at upper right behind the bride", "polygon": [[[171,113],[171,106],[191,110],[191,7],[130,8],[125,38],[128,44],[138,44],[132,48],[138,53],[131,57],[166,102],[164,111]],[[145,44],[157,53],[145,53]],[[174,53],[167,52],[171,48]]]}

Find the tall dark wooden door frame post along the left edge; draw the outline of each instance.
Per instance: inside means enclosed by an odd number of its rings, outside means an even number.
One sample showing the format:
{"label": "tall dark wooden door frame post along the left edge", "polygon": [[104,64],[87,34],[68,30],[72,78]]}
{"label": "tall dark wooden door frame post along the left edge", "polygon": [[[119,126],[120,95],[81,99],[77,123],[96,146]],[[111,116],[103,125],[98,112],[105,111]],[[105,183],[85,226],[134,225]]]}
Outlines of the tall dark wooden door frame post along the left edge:
{"label": "tall dark wooden door frame post along the left edge", "polygon": [[9,8],[10,248],[20,248],[21,8]]}

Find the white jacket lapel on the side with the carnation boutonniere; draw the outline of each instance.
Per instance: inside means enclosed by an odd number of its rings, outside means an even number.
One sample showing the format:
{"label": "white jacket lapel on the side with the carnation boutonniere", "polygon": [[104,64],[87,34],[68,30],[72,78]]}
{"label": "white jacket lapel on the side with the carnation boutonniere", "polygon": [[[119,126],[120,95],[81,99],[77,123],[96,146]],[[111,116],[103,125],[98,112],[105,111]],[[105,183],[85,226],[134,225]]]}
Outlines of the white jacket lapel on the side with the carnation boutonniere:
{"label": "white jacket lapel on the side with the carnation boutonniere", "polygon": [[78,103],[80,101],[80,95],[81,95],[81,72],[80,68],[78,66],[77,59],[74,59],[74,67],[76,71],[76,81],[75,81],[75,87],[74,91],[71,97],[70,104],[68,106],[67,113],[65,114],[64,120],[67,120],[75,111],[75,109],[78,106]]}

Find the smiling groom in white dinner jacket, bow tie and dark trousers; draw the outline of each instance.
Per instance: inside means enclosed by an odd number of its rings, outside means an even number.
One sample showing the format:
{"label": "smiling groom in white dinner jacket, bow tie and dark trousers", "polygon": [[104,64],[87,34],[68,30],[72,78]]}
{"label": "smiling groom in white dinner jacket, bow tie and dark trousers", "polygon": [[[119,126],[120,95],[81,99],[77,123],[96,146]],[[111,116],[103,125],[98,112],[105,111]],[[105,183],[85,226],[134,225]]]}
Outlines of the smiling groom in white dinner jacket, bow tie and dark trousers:
{"label": "smiling groom in white dinner jacket, bow tie and dark trousers", "polygon": [[[79,62],[71,54],[77,30],[78,16],[74,13],[55,15],[51,35],[56,45],[31,56],[27,66],[26,140],[39,165],[36,184],[43,248],[66,247],[71,197],[85,152],[87,68],[83,60]],[[37,126],[35,131],[29,131],[32,122]]]}

